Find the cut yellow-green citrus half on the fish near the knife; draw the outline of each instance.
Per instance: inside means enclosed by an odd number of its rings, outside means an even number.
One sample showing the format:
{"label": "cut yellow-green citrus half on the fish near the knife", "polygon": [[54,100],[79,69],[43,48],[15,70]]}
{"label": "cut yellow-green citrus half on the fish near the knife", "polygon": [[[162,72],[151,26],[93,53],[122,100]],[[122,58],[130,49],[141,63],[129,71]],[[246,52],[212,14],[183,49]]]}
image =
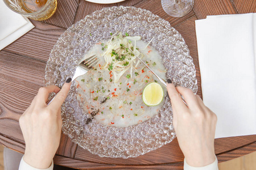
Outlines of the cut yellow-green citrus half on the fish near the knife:
{"label": "cut yellow-green citrus half on the fish near the knife", "polygon": [[148,106],[159,105],[163,100],[164,92],[159,83],[153,82],[147,84],[143,90],[142,100]]}

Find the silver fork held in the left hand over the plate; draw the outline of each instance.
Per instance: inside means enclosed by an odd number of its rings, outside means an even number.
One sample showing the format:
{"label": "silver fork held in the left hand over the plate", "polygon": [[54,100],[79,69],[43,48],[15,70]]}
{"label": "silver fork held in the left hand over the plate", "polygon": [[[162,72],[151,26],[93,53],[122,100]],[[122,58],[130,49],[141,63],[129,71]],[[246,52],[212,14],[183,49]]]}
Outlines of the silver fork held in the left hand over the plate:
{"label": "silver fork held in the left hand over the plate", "polygon": [[[98,61],[100,61],[100,59],[98,59],[95,54],[93,56],[83,59],[82,62],[80,62],[79,65],[76,67],[75,74],[72,77],[72,82],[77,77],[84,75],[87,71],[93,69],[93,66],[95,66]],[[49,97],[49,99],[47,100],[46,104],[49,105],[56,95],[57,93],[53,93],[53,95],[51,95],[51,97]]]}

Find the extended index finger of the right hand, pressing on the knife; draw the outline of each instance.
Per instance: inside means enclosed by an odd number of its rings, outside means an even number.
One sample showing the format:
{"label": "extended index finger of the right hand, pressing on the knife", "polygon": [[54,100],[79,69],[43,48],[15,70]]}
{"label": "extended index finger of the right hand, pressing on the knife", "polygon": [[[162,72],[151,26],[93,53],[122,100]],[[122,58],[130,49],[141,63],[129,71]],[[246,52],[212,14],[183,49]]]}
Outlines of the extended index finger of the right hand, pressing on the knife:
{"label": "extended index finger of the right hand, pressing on the knife", "polygon": [[187,111],[187,106],[181,99],[181,96],[177,92],[174,84],[171,83],[170,79],[167,80],[167,91],[168,95],[171,99],[172,108],[174,108],[177,112],[185,112]]}

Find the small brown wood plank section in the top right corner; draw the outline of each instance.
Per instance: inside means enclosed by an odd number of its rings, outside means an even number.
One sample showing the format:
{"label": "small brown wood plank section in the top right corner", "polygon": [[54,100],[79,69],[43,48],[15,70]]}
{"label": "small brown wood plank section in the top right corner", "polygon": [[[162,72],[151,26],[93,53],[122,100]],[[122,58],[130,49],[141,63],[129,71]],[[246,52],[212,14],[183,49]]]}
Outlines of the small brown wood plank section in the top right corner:
{"label": "small brown wood plank section in the top right corner", "polygon": [[238,14],[245,14],[256,12],[256,1],[251,0],[232,0],[234,8],[236,8]]}

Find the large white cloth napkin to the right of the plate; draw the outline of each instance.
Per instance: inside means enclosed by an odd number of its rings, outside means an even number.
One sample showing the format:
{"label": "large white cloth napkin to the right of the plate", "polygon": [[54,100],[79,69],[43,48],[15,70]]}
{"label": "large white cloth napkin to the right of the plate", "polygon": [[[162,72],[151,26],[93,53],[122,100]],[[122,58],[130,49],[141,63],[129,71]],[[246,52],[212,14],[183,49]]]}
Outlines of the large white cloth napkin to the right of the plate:
{"label": "large white cloth napkin to the right of the plate", "polygon": [[256,134],[256,14],[196,20],[205,105],[217,114],[215,138]]}

